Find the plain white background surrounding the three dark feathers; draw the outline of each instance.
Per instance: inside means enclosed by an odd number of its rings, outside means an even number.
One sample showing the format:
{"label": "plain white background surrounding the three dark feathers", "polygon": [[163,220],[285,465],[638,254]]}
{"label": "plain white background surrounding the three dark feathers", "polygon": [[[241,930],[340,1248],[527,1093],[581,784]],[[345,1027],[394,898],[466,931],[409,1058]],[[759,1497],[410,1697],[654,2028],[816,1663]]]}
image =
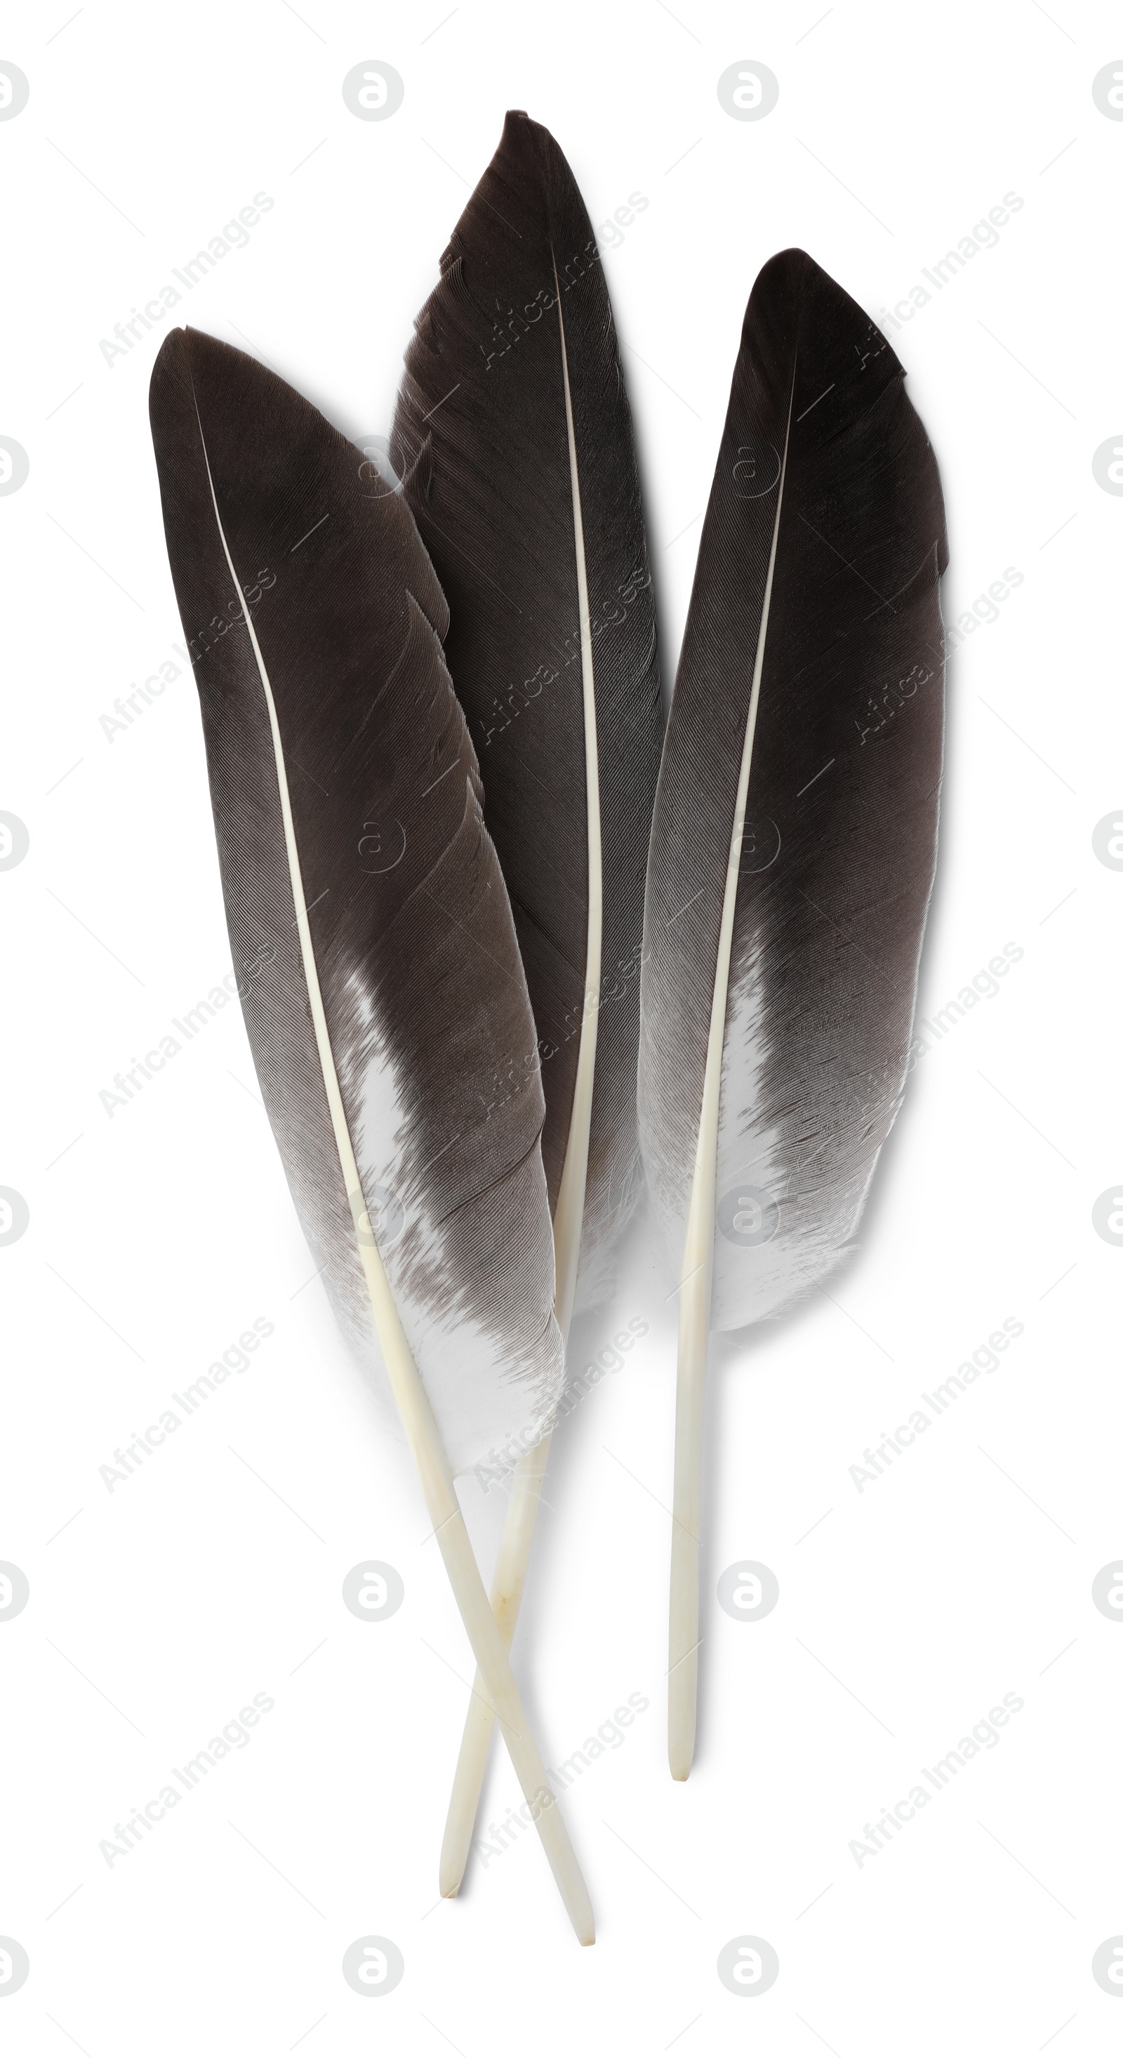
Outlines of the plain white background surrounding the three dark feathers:
{"label": "plain white background surrounding the three dark feathers", "polygon": [[[6,10],[31,80],[0,123],[6,315],[0,498],[8,745],[0,807],[0,1930],[31,1976],[14,2058],[385,2050],[866,2052],[1119,2048],[1092,1951],[1123,1932],[1123,1628],[1092,1605],[1119,1519],[1117,1286],[1092,1229],[1119,1179],[1119,807],[1113,601],[1123,502],[1119,152],[1092,103],[1117,10],[679,0],[428,8],[284,0]],[[442,16],[448,16],[442,21]],[[817,19],[823,16],[823,19]],[[385,60],[399,113],[343,74]],[[780,80],[730,119],[720,72]],[[1006,943],[1022,959],[919,1060],[862,1249],[831,1297],[712,1350],[705,1644],[689,1784],[664,1755],[673,1303],[648,1231],[613,1309],[650,1323],[557,1436],[516,1669],[547,1762],[629,1694],[650,1708],[564,1811],[599,1916],[578,1951],[531,1836],[438,1904],[471,1661],[405,1453],[343,1356],[230,1006],[113,1117],[134,1054],[228,969],[191,677],[109,741],[99,716],[179,638],[146,387],[162,329],[99,342],[222,224],[274,208],[171,319],[267,358],[360,436],[389,428],[411,319],[506,107],[545,121],[594,222],[625,346],[673,677],[697,517],[753,278],[804,245],[874,315],[1018,193],[893,342],[948,504],[946,613],[1022,584],[954,654],[921,1010]],[[685,154],[687,152],[687,154]],[[673,167],[673,169],[671,169]],[[274,1336],[136,1476],[99,1467],[255,1317]],[[1006,1319],[1024,1334],[858,1492],[849,1467]],[[1115,1317],[1115,1319],[1113,1319]],[[502,1494],[469,1482],[481,1554]],[[385,1624],[343,1609],[395,1564]],[[780,1578],[759,1624],[714,1601],[738,1556]],[[99,1842],[253,1694],[245,1749],[113,1867]],[[1024,1708],[862,1865],[864,1823],[1004,1694]],[[518,1803],[494,1760],[483,1821]],[[436,1906],[434,1906],[436,1904]],[[368,1932],[393,1994],[341,1978]],[[780,1955],[767,1994],[716,1974]],[[749,2042],[747,2042],[749,2039]]]}

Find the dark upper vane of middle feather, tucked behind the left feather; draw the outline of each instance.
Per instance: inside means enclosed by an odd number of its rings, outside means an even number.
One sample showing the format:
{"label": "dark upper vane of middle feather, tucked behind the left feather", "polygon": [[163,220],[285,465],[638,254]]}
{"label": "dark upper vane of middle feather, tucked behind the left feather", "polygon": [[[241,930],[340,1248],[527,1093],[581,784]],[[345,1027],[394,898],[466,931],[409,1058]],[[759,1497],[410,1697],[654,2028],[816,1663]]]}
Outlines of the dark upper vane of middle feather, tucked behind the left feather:
{"label": "dark upper vane of middle feather, tucked behind the left feather", "polygon": [[559,1315],[640,1192],[636,1056],[662,739],[654,605],[601,251],[553,136],[508,113],[405,360],[391,457],[450,607],[539,1033]]}

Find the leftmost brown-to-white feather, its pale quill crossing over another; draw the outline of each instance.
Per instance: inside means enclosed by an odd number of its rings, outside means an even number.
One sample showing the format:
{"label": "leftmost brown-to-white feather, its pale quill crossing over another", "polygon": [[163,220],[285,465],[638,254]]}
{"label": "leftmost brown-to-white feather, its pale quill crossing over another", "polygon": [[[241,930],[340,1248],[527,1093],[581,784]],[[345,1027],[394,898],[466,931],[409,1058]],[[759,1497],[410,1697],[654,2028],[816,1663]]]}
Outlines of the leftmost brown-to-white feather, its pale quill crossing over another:
{"label": "leftmost brown-to-white feather, its pale quill crossing over another", "polygon": [[452,1488],[506,1428],[549,1420],[564,1350],[535,1025],[444,595],[405,502],[251,358],[175,331],[150,414],[265,1109],[343,1332],[389,1377],[481,1692],[592,1943]]}

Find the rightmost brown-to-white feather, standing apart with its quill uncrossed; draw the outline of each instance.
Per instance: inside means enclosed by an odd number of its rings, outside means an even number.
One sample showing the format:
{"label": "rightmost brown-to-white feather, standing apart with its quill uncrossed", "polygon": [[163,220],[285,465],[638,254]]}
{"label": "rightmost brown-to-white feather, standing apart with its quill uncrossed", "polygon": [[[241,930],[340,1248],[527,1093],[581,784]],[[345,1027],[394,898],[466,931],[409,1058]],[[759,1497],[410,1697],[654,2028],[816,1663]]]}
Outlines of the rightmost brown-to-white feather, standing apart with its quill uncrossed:
{"label": "rightmost brown-to-white feather, standing apart with its quill uncrossed", "polygon": [[679,1276],[671,1762],[693,1753],[705,1336],[843,1255],[901,1103],[944,733],[936,459],[876,325],[761,272],[648,864],[640,1140]]}

